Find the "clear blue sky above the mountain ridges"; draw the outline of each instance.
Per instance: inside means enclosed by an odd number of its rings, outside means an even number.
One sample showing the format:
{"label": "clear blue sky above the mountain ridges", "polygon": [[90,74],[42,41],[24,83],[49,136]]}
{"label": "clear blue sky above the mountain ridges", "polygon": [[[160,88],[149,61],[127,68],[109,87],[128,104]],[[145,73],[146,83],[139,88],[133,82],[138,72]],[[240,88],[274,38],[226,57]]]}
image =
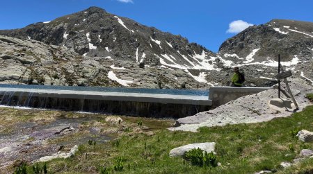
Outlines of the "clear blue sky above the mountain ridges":
{"label": "clear blue sky above the mountain ridges", "polygon": [[[214,52],[248,24],[271,19],[313,22],[311,0],[1,0],[0,29],[51,21],[90,6],[182,35]],[[229,28],[232,21],[237,22]]]}

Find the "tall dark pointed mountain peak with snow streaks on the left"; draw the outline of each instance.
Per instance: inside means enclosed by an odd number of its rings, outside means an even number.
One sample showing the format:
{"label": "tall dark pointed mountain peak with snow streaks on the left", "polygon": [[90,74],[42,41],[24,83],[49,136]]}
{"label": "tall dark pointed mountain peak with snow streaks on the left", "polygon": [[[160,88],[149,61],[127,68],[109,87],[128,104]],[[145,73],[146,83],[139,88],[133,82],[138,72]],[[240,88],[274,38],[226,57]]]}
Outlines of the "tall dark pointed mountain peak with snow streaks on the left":
{"label": "tall dark pointed mountain peak with snow streaks on the left", "polygon": [[91,57],[131,60],[138,64],[144,62],[150,66],[179,69],[206,69],[201,62],[209,55],[214,55],[180,35],[144,26],[97,7],[18,30],[0,31],[0,35],[66,46]]}

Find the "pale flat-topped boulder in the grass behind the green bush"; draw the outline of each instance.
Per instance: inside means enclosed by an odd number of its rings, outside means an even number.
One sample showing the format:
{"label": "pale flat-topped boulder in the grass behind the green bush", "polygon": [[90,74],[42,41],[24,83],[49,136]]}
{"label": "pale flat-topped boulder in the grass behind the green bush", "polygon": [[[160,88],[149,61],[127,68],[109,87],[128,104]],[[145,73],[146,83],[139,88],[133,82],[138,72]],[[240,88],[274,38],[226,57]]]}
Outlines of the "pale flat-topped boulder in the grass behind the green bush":
{"label": "pale flat-topped boulder in the grass behind the green bush", "polygon": [[214,152],[216,143],[191,143],[185,146],[180,146],[178,148],[173,148],[170,150],[170,157],[177,157],[184,155],[185,152],[192,150],[193,148],[200,148],[207,153]]}

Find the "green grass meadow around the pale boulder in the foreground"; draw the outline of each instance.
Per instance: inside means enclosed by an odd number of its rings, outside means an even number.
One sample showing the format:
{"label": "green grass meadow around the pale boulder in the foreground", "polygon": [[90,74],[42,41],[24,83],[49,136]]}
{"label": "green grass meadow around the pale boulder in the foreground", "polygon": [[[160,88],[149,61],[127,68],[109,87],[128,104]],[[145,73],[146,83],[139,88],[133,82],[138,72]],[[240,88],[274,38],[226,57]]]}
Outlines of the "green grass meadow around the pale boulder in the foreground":
{"label": "green grass meadow around the pale boulder in the foreground", "polygon": [[[139,118],[132,121],[137,123]],[[147,125],[145,120],[143,125]],[[56,173],[97,173],[98,168],[106,168],[109,173],[255,173],[262,170],[294,173],[293,170],[300,172],[302,168],[295,166],[286,171],[279,164],[291,162],[303,147],[313,148],[312,143],[300,143],[294,137],[298,130],[313,131],[312,125],[313,106],[310,106],[290,117],[264,123],[200,128],[198,132],[152,129],[154,134],[124,134],[95,146],[89,146],[86,141],[74,157],[56,159],[47,165],[49,171]],[[172,148],[202,142],[216,142],[216,156],[222,166],[193,166],[182,157],[168,155]],[[300,165],[302,171],[313,170],[312,159]]]}

